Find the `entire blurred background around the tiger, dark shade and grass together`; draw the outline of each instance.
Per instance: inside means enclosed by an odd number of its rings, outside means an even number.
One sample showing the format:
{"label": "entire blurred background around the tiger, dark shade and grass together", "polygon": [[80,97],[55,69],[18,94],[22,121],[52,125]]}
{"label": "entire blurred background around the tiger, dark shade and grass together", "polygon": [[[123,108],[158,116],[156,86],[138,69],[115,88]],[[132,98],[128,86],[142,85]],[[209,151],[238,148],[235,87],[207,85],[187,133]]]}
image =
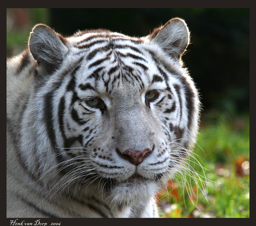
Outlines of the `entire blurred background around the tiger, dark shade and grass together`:
{"label": "entire blurred background around the tiger, dark shade and grass together", "polygon": [[63,36],[97,28],[146,36],[174,17],[183,18],[190,29],[183,61],[203,104],[194,152],[205,169],[191,160],[201,177],[186,185],[179,177],[171,181],[158,195],[160,214],[249,217],[248,8],[8,8],[7,57],[27,48],[37,23]]}

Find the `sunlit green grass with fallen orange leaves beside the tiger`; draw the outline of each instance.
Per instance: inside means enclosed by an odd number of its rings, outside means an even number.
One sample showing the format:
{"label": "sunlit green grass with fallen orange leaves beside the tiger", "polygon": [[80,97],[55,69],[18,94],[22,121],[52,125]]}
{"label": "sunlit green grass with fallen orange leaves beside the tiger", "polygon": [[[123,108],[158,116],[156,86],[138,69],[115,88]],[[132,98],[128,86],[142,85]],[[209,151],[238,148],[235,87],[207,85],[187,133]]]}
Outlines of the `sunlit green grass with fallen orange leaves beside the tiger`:
{"label": "sunlit green grass with fallen orange leaves beside the tiger", "polygon": [[249,218],[249,116],[209,115],[194,149],[204,169],[190,163],[201,177],[171,180],[157,195],[160,217]]}

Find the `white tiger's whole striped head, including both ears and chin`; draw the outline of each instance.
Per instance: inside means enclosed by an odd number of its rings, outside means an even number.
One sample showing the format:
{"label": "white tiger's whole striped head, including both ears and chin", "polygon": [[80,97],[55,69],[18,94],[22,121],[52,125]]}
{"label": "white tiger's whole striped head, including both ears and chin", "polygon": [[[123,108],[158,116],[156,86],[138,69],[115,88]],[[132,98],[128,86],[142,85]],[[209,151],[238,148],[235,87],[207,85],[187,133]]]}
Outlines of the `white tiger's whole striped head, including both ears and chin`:
{"label": "white tiger's whole striped head, including both ears and chin", "polygon": [[181,61],[188,44],[178,18],[141,38],[33,28],[28,133],[66,189],[135,202],[173,178],[198,131],[198,92]]}

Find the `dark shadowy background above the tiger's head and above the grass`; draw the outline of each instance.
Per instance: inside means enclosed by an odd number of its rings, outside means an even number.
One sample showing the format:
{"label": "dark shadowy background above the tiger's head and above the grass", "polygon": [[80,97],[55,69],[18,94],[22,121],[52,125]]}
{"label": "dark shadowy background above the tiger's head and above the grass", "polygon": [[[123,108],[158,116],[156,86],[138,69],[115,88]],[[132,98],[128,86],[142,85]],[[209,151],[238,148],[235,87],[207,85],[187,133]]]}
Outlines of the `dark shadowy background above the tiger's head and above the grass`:
{"label": "dark shadowy background above the tiger's head and above the grass", "polygon": [[[16,14],[20,11],[15,10]],[[248,8],[52,8],[44,10],[26,9],[23,16],[16,19],[20,28],[12,26],[12,29],[21,30],[24,27],[21,21],[22,19],[24,21],[27,13],[28,31],[31,31],[35,23],[46,23],[63,36],[72,35],[77,30],[97,28],[106,28],[129,36],[146,36],[171,18],[183,18],[191,34],[191,44],[183,56],[183,61],[199,88],[204,111],[214,109],[216,112],[227,112],[232,115],[249,112]],[[13,16],[13,10],[9,12]],[[15,19],[13,20],[15,22]],[[26,35],[28,37],[29,32]],[[11,53],[12,50],[9,50],[7,45],[7,55],[8,52]]]}

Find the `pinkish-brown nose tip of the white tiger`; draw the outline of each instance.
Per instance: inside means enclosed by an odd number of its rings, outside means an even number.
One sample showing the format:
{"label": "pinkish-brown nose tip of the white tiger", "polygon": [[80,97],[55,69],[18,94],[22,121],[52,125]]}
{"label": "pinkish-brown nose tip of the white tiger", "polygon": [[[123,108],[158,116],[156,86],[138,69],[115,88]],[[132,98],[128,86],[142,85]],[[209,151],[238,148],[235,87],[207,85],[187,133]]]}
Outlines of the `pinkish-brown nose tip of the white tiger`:
{"label": "pinkish-brown nose tip of the white tiger", "polygon": [[142,151],[136,151],[133,149],[126,149],[123,153],[121,153],[118,149],[117,152],[119,152],[119,155],[126,160],[129,160],[134,165],[139,165],[143,162],[144,158],[149,156],[152,152],[150,148],[146,148]]}

